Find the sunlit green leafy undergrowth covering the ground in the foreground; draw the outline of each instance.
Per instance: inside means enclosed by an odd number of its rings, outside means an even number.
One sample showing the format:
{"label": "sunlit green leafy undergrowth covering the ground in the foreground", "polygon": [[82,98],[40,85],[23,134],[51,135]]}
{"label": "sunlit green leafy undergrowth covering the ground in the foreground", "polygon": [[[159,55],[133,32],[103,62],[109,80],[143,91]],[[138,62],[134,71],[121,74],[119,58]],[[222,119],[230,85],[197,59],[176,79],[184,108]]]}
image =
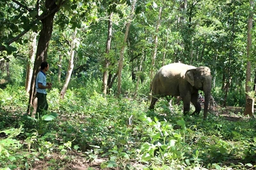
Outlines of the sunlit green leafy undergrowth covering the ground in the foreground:
{"label": "sunlit green leafy undergrowth covering the ground in the foreground", "polygon": [[[22,87],[0,89],[0,169],[254,169],[255,119],[216,108],[207,120],[159,101],[52,89],[42,120]],[[222,117],[225,113],[225,117]],[[233,121],[227,117],[236,117]]]}

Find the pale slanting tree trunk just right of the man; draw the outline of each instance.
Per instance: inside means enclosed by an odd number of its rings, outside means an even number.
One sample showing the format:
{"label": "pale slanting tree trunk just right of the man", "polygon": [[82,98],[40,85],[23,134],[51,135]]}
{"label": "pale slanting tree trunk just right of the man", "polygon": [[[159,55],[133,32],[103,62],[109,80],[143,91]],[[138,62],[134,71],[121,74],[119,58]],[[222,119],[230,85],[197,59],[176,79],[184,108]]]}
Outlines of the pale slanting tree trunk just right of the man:
{"label": "pale slanting tree trunk just right of the man", "polygon": [[68,88],[68,83],[70,81],[70,78],[71,78],[71,74],[72,74],[72,71],[74,69],[74,55],[75,55],[75,46],[76,46],[76,34],[77,34],[77,29],[75,29],[74,31],[74,34],[73,34],[73,38],[72,38],[72,42],[71,42],[71,48],[70,48],[70,59],[69,59],[69,63],[68,63],[68,73],[67,73],[67,76],[66,76],[66,80],[65,80],[65,83],[63,85],[63,88],[60,92],[60,98],[61,99],[64,99],[65,97],[65,94],[67,92],[67,88]]}

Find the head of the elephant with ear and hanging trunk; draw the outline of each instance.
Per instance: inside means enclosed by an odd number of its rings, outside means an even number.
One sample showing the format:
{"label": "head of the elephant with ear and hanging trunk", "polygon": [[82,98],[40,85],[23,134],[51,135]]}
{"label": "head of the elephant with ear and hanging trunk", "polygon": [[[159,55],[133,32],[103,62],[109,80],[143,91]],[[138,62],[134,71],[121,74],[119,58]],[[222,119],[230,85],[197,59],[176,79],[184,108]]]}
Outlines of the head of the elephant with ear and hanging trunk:
{"label": "head of the elephant with ear and hanging trunk", "polygon": [[195,89],[203,90],[205,94],[204,102],[204,118],[207,117],[209,100],[211,97],[212,76],[209,67],[196,67],[186,71],[185,79],[195,87]]}

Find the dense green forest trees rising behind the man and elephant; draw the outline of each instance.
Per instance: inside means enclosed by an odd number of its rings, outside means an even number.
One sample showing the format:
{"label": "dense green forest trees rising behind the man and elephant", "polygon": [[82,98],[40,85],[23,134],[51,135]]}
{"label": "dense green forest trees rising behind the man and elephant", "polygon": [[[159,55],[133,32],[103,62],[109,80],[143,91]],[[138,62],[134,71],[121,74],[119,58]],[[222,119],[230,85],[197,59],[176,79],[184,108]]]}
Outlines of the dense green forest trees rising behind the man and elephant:
{"label": "dense green forest trees rising behind the man and elephant", "polygon": [[[147,96],[150,79],[159,67],[182,62],[211,68],[212,94],[218,103],[244,106],[248,60],[252,62],[252,79],[255,77],[254,43],[250,55],[247,53],[250,2],[133,3],[134,13],[132,4],[125,1],[60,2],[52,20],[52,35],[44,35],[49,41],[42,40],[47,45],[41,45],[38,38],[44,27],[40,18],[49,12],[44,1],[1,1],[1,79],[26,84],[31,79],[28,69],[33,69],[36,58],[35,63],[49,62],[49,78],[60,89],[71,61],[69,87],[91,80],[101,87],[102,77],[107,75],[108,92],[117,94],[118,69],[123,69],[120,92]],[[254,20],[255,13],[252,16]],[[127,24],[129,32],[125,32]],[[255,29],[251,34],[255,42]],[[44,51],[36,50],[44,46]]]}

